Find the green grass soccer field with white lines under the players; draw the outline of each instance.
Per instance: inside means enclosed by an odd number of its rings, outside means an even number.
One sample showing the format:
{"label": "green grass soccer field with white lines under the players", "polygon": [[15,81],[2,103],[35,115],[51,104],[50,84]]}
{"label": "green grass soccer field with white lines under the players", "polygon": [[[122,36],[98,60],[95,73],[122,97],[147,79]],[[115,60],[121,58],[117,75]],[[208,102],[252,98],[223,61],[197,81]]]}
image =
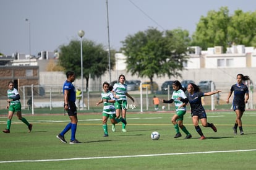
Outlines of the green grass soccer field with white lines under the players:
{"label": "green grass soccer field with white lines under the players", "polygon": [[[245,111],[242,117],[244,135],[233,134],[235,114],[208,111],[208,122],[218,132],[200,125],[206,140],[198,140],[190,113],[184,117],[192,138],[173,138],[173,112],[129,113],[127,132],[103,137],[101,114],[79,114],[75,145],[61,143],[56,135],[69,122],[63,114],[23,115],[33,124],[31,133],[25,124],[12,119],[11,133],[0,133],[0,169],[256,169],[256,114]],[[0,127],[6,127],[0,117]],[[153,131],[159,140],[151,140]],[[69,140],[70,132],[66,134]]]}

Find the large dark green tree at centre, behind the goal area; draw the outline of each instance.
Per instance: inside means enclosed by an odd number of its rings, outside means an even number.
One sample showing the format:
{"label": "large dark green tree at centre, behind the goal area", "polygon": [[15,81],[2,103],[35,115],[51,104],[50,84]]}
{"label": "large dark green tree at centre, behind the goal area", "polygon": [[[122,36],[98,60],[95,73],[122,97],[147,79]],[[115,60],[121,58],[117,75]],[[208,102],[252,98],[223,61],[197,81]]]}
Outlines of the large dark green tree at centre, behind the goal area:
{"label": "large dark green tree at centre, behind the goal area", "polygon": [[[127,71],[138,77],[148,77],[153,87],[153,77],[168,75],[181,76],[178,72],[187,61],[186,50],[189,33],[180,29],[160,32],[149,28],[144,32],[128,35],[122,41],[124,54],[127,56]],[[151,88],[153,93],[153,88]]]}

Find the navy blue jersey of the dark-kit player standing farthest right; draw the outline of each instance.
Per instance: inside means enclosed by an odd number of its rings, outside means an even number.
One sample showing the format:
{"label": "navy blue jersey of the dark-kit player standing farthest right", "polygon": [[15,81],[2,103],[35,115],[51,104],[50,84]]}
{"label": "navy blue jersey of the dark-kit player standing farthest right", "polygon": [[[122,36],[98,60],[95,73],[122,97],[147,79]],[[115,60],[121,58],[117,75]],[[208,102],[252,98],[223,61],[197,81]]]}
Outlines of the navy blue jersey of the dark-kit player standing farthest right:
{"label": "navy blue jersey of the dark-kit player standing farthest right", "polygon": [[231,93],[234,91],[234,99],[233,105],[245,105],[244,103],[244,95],[245,93],[249,93],[249,90],[246,85],[243,83],[241,85],[234,84],[231,89]]}

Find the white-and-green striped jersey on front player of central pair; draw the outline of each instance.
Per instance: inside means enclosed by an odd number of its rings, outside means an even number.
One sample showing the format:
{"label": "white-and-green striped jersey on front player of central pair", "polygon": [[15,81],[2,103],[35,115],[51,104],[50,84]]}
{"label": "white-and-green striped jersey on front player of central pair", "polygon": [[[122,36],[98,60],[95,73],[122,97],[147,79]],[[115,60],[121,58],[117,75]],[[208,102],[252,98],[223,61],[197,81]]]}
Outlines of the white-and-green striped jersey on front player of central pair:
{"label": "white-and-green striped jersey on front player of central pair", "polygon": [[[103,92],[101,93],[101,99],[106,100],[115,100],[113,93],[111,91],[108,91],[107,93]],[[103,106],[103,113],[106,114],[116,114],[116,109],[114,108],[114,103],[104,102]]]}

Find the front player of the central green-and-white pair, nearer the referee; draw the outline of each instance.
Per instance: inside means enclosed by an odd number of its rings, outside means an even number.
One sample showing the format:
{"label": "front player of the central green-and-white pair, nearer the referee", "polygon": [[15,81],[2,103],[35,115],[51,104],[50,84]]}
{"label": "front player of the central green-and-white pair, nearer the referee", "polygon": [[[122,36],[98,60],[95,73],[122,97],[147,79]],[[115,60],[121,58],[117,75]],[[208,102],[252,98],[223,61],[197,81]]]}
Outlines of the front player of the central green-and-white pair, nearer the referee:
{"label": "front player of the central green-and-white pair, nearer the referee", "polygon": [[[126,124],[126,120],[122,117],[121,119],[116,118],[116,109],[114,108],[114,102],[116,101],[114,98],[113,93],[111,92],[112,88],[109,87],[109,83],[104,82],[103,85],[103,92],[101,93],[101,100],[96,103],[98,106],[100,103],[104,103],[103,112],[102,112],[102,127],[104,130],[103,137],[108,137],[108,117],[110,117],[110,121],[112,124],[117,124],[118,122],[123,122]],[[116,118],[116,119],[115,119]]]}

